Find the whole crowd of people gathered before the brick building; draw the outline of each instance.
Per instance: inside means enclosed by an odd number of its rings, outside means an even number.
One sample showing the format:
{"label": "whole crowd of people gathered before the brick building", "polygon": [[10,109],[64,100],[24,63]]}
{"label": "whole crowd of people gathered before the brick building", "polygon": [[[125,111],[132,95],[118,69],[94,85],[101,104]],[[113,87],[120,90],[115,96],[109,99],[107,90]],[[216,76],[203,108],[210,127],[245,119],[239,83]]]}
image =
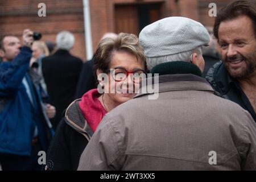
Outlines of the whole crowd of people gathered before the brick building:
{"label": "whole crowd of people gathered before the brick building", "polygon": [[[2,170],[256,170],[255,27],[236,1],[214,27],[175,16],[106,32],[85,63],[69,31],[1,36]],[[143,79],[158,90],[135,93]]]}

